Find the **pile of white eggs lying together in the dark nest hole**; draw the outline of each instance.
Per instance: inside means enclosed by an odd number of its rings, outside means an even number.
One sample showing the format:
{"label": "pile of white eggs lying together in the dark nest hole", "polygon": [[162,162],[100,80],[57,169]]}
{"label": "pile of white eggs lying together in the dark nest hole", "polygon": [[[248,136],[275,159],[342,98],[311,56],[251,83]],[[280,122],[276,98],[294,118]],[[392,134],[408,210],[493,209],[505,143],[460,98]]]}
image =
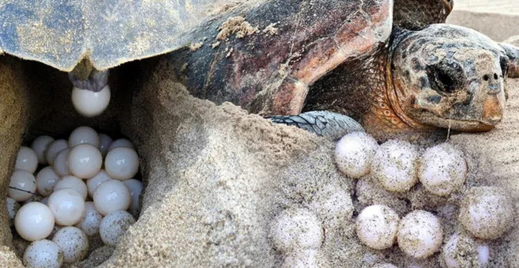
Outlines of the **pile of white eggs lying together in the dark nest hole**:
{"label": "pile of white eggs lying together in the dark nest hole", "polygon": [[100,233],[104,243],[115,245],[139,213],[138,170],[128,139],[113,140],[89,126],[78,127],[69,139],[42,135],[21,146],[8,212],[16,232],[32,242],[24,265],[75,263],[89,251],[87,238]]}

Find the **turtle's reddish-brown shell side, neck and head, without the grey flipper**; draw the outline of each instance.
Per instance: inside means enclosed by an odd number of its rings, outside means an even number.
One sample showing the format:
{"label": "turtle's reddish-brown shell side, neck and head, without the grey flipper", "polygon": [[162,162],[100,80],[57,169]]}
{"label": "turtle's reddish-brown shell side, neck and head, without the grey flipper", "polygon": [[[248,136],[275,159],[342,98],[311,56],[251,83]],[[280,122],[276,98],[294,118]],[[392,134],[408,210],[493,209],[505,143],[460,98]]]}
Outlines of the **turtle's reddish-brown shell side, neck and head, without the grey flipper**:
{"label": "turtle's reddish-brown shell side, neck and head, without the grey flipper", "polygon": [[488,131],[503,117],[504,80],[516,73],[507,69],[516,68],[519,50],[463,27],[430,25],[445,21],[452,4],[399,0],[393,12],[390,0],[265,1],[227,17],[259,29],[276,23],[278,34],[232,36],[168,58],[194,96],[252,113],[335,111],[377,137]]}

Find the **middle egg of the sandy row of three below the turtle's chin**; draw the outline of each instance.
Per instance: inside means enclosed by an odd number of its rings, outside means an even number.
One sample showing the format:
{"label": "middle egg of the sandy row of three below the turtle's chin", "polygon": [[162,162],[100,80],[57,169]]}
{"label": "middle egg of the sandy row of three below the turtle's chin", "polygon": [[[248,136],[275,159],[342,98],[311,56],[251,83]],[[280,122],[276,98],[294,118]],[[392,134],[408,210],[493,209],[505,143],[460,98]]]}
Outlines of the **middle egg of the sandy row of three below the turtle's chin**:
{"label": "middle egg of the sandy row of three below the turtle's chin", "polygon": [[406,192],[417,183],[418,152],[409,142],[392,139],[379,146],[371,172],[384,189]]}

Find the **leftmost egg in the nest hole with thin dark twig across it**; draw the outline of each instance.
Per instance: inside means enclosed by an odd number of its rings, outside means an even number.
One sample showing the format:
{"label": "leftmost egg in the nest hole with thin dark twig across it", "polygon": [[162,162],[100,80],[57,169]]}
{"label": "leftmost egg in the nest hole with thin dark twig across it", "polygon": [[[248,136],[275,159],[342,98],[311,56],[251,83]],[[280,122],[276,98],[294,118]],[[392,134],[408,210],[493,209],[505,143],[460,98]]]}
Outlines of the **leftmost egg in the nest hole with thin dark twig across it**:
{"label": "leftmost egg in the nest hole with thin dark twig across it", "polygon": [[9,182],[8,196],[16,201],[29,200],[36,193],[36,179],[31,172],[16,169]]}

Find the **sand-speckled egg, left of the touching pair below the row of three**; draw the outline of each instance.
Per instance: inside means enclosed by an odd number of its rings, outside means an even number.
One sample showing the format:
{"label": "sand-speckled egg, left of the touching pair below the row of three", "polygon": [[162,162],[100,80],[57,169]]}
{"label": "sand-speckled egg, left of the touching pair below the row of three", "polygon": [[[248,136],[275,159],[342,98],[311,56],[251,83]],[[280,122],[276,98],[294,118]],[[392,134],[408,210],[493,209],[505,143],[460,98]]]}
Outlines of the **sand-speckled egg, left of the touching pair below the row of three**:
{"label": "sand-speckled egg, left of the touching pair below the row of three", "polygon": [[357,216],[355,230],[360,241],[373,249],[386,249],[395,242],[398,214],[386,205],[370,205]]}

